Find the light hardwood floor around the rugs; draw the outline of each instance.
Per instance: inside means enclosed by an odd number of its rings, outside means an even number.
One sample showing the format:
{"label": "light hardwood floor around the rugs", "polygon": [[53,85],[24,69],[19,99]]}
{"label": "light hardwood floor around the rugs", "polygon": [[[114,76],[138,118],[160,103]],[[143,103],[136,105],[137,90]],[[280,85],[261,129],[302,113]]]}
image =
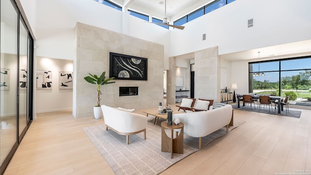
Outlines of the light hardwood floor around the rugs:
{"label": "light hardwood floor around the rugs", "polygon": [[[161,175],[276,175],[311,170],[311,110],[295,110],[302,111],[299,119],[235,110],[234,120],[246,123]],[[93,117],[74,119],[71,111],[37,114],[4,175],[113,175],[82,130],[101,123],[103,119]]]}

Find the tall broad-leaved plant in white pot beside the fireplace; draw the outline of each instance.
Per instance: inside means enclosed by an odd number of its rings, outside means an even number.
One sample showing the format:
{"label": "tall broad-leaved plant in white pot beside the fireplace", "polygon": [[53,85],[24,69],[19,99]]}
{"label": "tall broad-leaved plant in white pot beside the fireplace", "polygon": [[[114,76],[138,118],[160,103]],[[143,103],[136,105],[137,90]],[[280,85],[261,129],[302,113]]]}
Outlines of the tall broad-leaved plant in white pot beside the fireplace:
{"label": "tall broad-leaved plant in white pot beside the fireplace", "polygon": [[[98,95],[97,95],[97,105],[94,106],[94,117],[95,119],[101,119],[103,117],[103,112],[102,112],[102,109],[101,109],[101,104],[100,104],[100,95],[102,95],[102,92],[101,92],[101,86],[102,85],[107,85],[107,84],[112,84],[112,83],[116,83],[116,82],[111,82],[112,79],[114,79],[114,77],[111,77],[111,78],[108,78],[108,79],[105,79],[105,71],[102,73],[102,75],[99,77],[97,75],[92,75],[90,73],[89,76],[86,76],[84,77],[84,79],[90,83],[90,84],[94,84],[97,86],[97,92],[98,92]],[[110,82],[109,82],[110,81]]]}

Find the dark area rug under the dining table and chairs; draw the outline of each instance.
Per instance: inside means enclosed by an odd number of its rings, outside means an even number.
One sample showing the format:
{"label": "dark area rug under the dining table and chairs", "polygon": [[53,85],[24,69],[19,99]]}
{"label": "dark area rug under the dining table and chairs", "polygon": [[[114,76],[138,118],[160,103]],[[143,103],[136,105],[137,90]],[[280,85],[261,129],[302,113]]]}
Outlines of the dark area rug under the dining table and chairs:
{"label": "dark area rug under the dining table and chairs", "polygon": [[242,108],[242,105],[241,105],[241,107],[238,108],[238,106],[232,105],[232,108],[238,109],[238,110],[244,110],[244,111],[261,112],[261,113],[266,113],[266,114],[273,114],[273,115],[280,115],[280,116],[294,117],[294,118],[300,118],[300,115],[301,115],[301,111],[297,111],[297,110],[289,110],[286,113],[285,106],[284,106],[284,111],[281,111],[281,113],[277,113],[277,110],[275,110],[274,106],[272,107],[272,109],[270,107],[270,111],[269,111],[269,108],[266,106],[260,108],[260,111],[259,111],[258,106],[256,106],[256,109],[254,109],[254,106],[252,106],[252,108],[250,106],[246,106]]}

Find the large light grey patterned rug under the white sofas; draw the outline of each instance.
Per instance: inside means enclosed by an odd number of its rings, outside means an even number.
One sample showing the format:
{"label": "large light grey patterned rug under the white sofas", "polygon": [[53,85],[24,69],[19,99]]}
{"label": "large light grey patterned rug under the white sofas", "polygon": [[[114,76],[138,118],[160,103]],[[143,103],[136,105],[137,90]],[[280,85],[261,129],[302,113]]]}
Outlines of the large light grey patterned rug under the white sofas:
{"label": "large light grey patterned rug under the white sofas", "polygon": [[[245,122],[235,121],[229,131],[242,123]],[[83,130],[116,175],[157,175],[179,160],[199,151],[199,139],[184,135],[184,154],[173,154],[171,159],[171,153],[161,152],[161,127],[149,122],[146,140],[143,140],[143,133],[138,133],[129,137],[128,145],[125,136],[112,130],[106,131],[104,124],[85,127]],[[224,136],[225,130],[225,127],[221,128],[202,138],[202,147]]]}

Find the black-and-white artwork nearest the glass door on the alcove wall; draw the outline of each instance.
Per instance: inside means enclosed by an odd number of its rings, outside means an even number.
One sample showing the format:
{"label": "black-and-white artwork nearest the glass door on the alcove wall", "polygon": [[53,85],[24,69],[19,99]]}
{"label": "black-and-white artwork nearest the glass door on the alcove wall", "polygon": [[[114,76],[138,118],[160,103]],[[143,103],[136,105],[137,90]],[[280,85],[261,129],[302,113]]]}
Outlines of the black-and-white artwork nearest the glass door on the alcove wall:
{"label": "black-and-white artwork nearest the glass door on the alcove wall", "polygon": [[37,89],[52,89],[52,70],[37,70]]}

